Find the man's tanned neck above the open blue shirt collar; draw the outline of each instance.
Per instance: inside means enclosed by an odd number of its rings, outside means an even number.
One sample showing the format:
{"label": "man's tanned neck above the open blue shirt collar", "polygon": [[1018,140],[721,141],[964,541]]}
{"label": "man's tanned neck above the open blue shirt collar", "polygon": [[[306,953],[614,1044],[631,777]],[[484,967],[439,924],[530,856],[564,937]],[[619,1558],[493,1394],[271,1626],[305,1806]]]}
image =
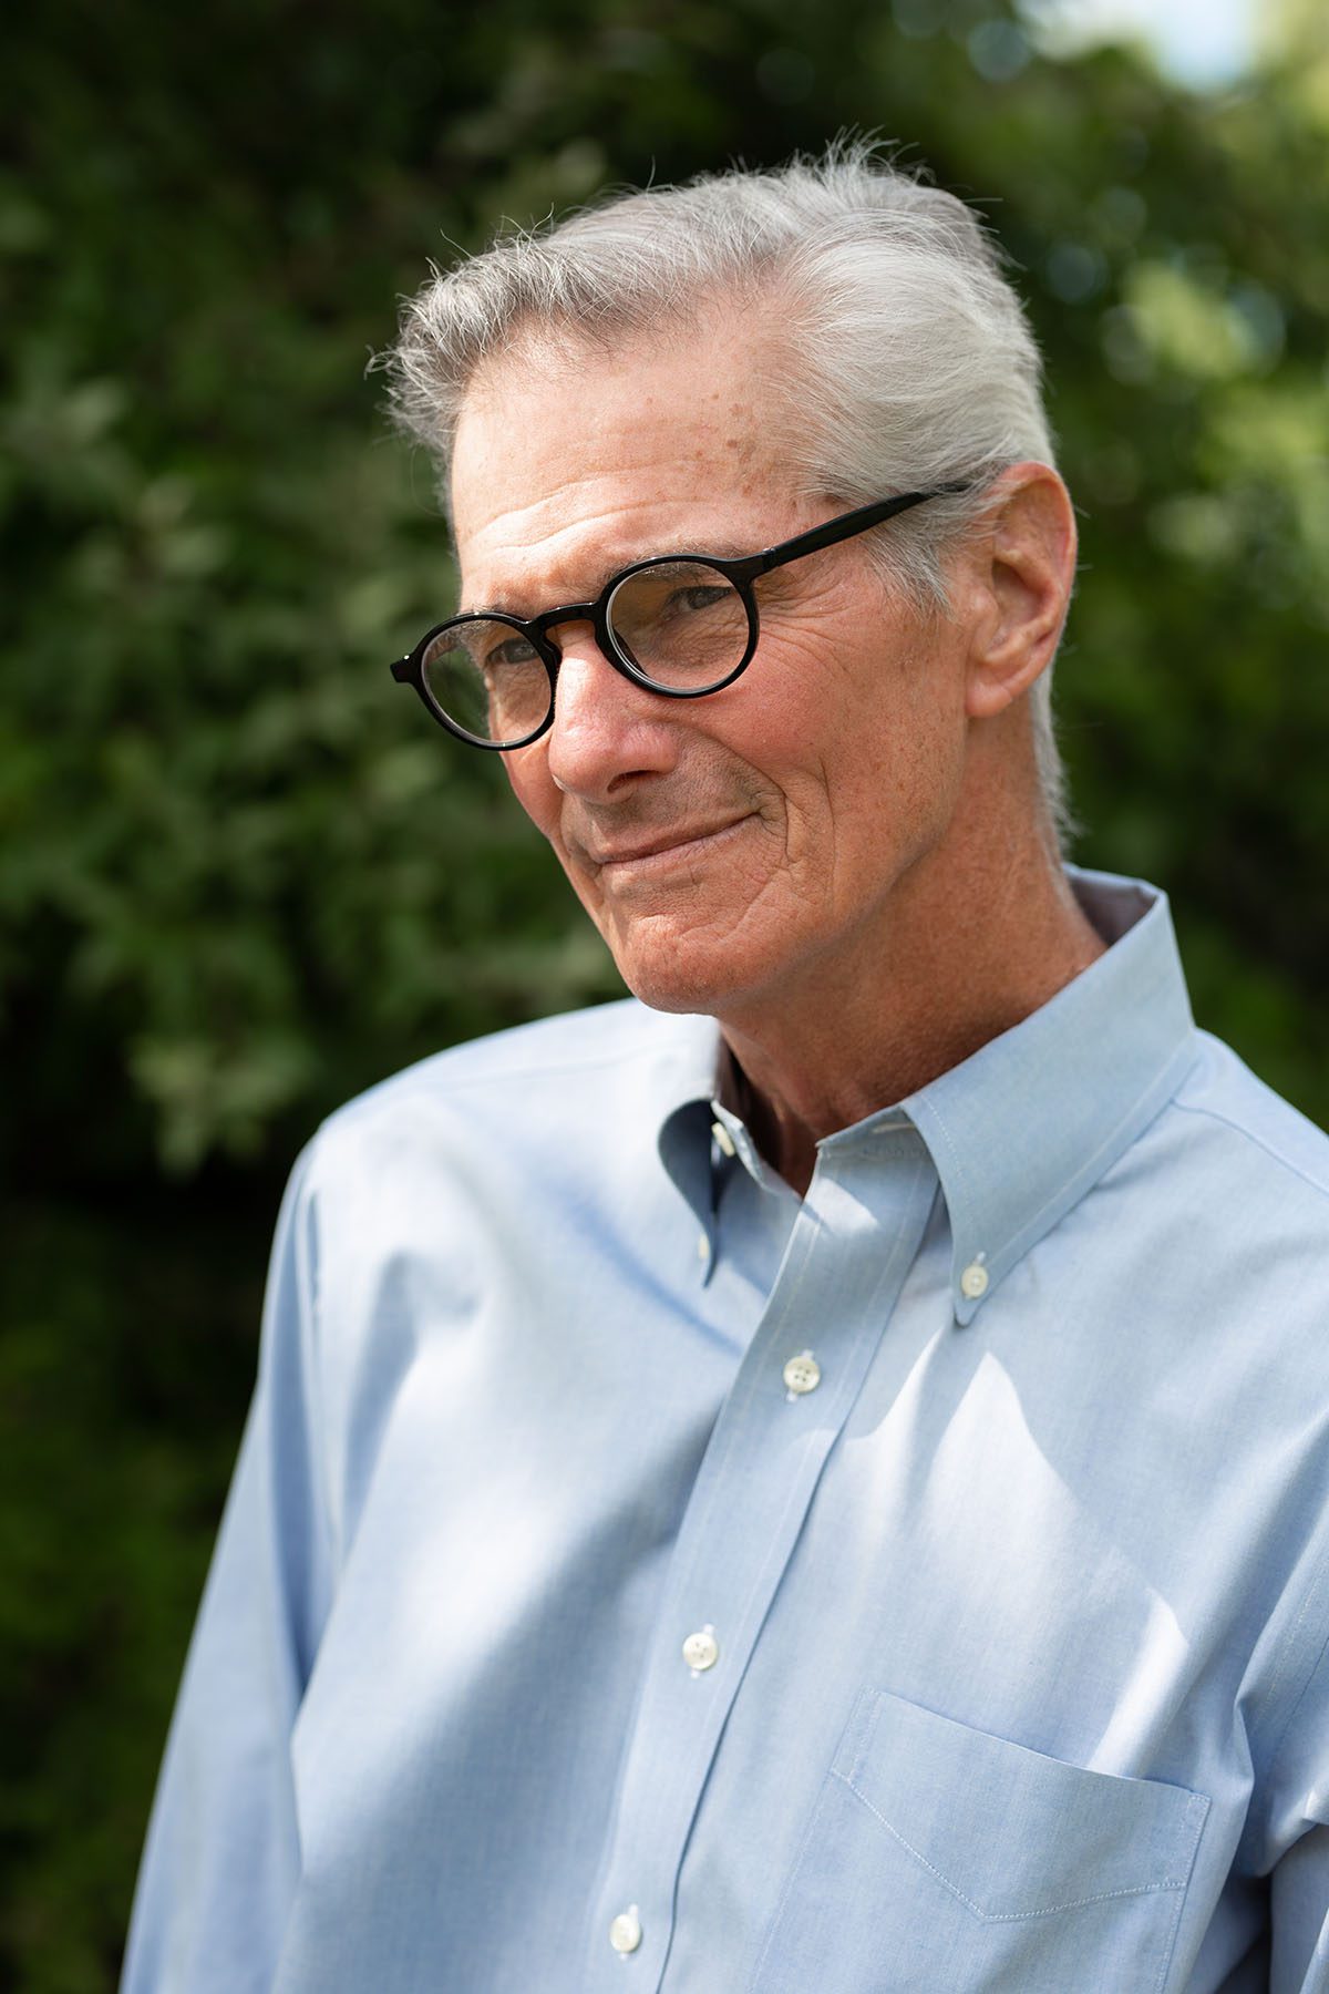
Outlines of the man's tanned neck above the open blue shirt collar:
{"label": "man's tanned neck above the open blue shirt collar", "polygon": [[719,1019],[733,1107],[805,1192],[817,1143],[903,1101],[1028,1017],[1104,953],[1060,861],[1030,837],[1000,863],[921,865],[851,961]]}

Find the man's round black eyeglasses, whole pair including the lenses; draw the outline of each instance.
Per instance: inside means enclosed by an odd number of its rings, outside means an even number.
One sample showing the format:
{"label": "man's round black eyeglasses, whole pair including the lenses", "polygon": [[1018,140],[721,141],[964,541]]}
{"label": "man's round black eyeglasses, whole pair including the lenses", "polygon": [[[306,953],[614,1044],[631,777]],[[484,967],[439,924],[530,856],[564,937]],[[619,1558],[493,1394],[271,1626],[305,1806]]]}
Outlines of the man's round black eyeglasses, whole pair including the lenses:
{"label": "man's round black eyeglasses, whole pair including the lenses", "polygon": [[725,560],[719,554],[658,554],[610,576],[594,602],[564,602],[542,616],[468,610],[434,624],[416,648],[393,664],[393,678],[414,690],[448,734],[472,748],[526,748],[554,720],[562,652],[550,630],[588,622],[602,654],[634,686],[665,700],[701,700],[747,670],[757,648],[753,582],[771,568],[817,554],[883,526],[929,498],[962,493],[938,485],[901,493],[841,512],[811,532]]}

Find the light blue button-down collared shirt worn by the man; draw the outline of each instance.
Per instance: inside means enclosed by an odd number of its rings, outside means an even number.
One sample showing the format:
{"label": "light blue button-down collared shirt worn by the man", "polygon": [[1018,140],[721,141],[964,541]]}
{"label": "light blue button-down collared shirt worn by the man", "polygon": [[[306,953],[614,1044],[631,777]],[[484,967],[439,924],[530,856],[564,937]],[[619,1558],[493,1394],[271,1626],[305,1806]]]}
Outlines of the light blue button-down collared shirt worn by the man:
{"label": "light blue button-down collared shirt worn by the man", "polygon": [[128,1994],[1329,1988],[1329,1143],[1076,889],[803,1200],[632,1003],[331,1119]]}

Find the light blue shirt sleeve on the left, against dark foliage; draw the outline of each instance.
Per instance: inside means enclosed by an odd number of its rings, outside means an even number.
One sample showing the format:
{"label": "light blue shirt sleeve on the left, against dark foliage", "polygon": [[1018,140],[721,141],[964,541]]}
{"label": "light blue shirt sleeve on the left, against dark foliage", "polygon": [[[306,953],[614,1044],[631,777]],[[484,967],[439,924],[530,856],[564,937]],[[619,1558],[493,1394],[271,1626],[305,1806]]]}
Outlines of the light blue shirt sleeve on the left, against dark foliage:
{"label": "light blue shirt sleeve on the left, against dark foliage", "polygon": [[291,1729],[329,1595],[307,1161],[277,1224],[259,1380],[157,1783],[122,1994],[271,1988],[299,1876]]}

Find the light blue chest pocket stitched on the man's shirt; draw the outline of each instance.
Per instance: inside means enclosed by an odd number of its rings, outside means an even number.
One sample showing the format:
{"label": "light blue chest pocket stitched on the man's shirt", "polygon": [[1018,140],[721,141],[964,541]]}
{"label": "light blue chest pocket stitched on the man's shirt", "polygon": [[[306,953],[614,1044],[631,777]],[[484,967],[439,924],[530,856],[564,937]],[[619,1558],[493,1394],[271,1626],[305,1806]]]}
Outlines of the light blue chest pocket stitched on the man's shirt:
{"label": "light blue chest pocket stitched on the man's shirt", "polygon": [[753,1994],[1164,1994],[1209,1803],[865,1691]]}

